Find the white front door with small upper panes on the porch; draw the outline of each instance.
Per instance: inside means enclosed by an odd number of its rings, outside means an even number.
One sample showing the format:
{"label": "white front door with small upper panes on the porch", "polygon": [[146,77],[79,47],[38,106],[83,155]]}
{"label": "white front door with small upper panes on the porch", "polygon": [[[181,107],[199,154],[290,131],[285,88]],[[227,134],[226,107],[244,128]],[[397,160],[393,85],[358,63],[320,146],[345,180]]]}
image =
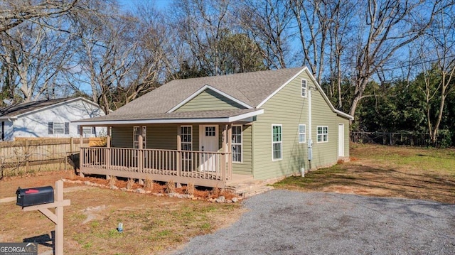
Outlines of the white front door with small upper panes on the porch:
{"label": "white front door with small upper panes on the porch", "polygon": [[199,151],[200,153],[200,170],[213,172],[217,166],[217,156],[213,153],[218,152],[218,125],[200,125],[199,126]]}

